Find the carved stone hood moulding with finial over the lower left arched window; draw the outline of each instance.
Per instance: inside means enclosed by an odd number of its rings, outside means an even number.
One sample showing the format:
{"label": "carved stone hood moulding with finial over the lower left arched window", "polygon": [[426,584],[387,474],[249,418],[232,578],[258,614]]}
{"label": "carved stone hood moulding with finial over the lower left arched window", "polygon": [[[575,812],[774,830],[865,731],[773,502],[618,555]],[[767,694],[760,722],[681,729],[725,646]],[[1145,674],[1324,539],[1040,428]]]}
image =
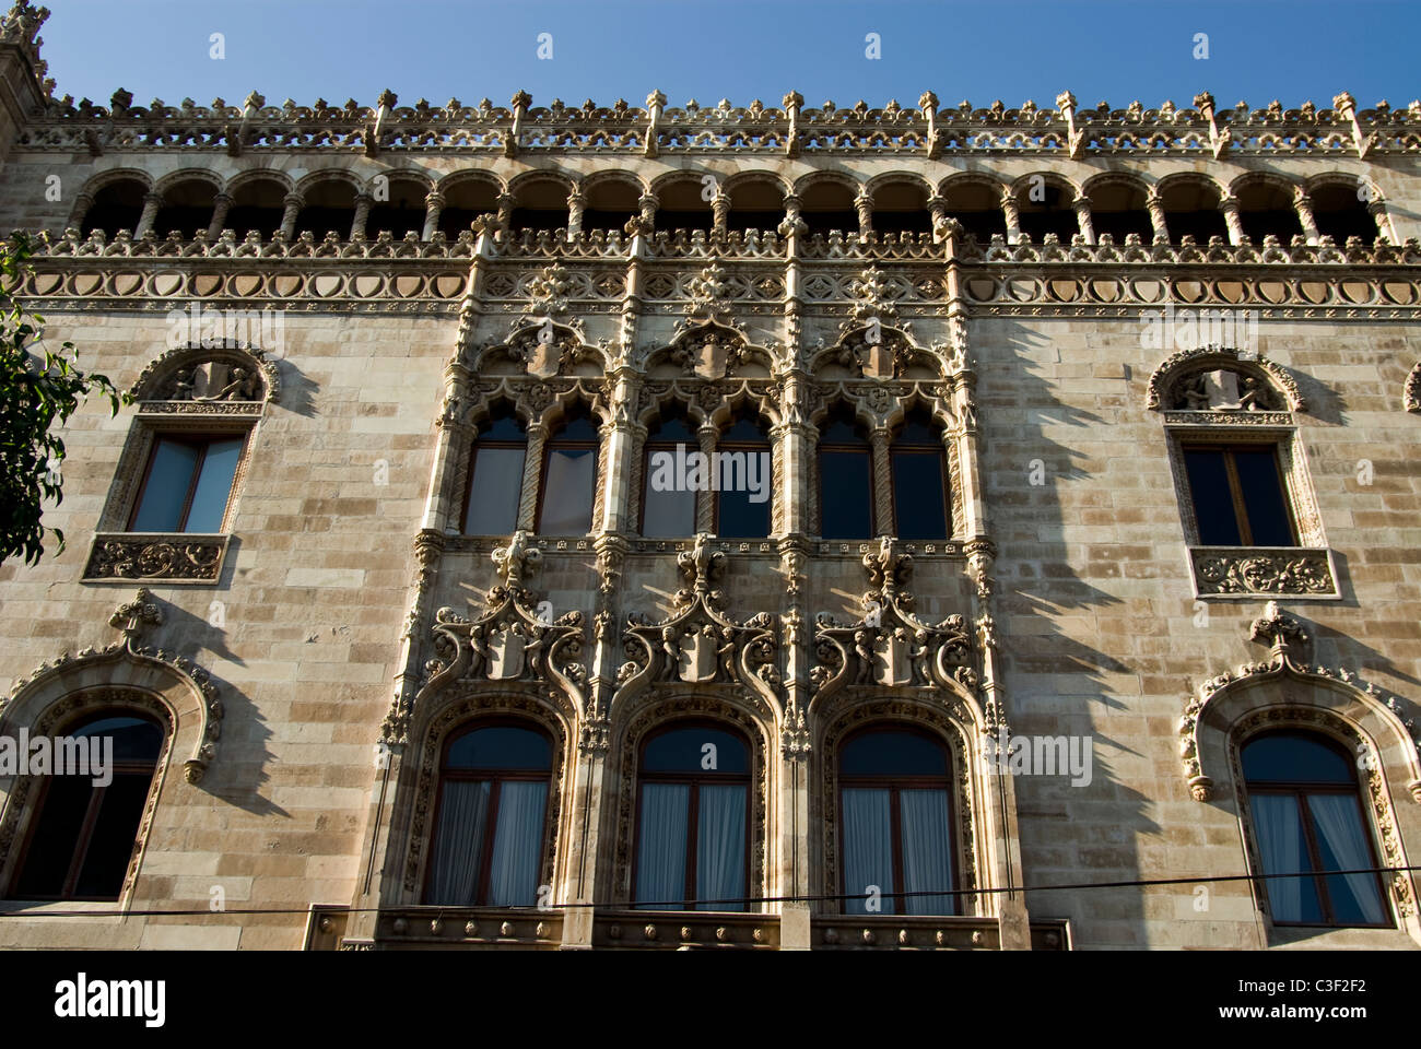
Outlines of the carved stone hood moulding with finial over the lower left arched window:
{"label": "carved stone hood moulding with finial over the lower left arched window", "polygon": [[[14,682],[10,696],[0,704],[0,731],[38,723],[44,711],[71,694],[71,685],[77,682],[95,681],[105,687],[138,689],[159,698],[175,731],[183,729],[196,716],[196,742],[192,758],[183,763],[183,776],[189,783],[200,782],[217,753],[222,699],[207,671],[192,660],[139,644],[144,633],[162,625],[162,607],[148,590],[139,590],[108,620],[122,633],[121,641],[97,650],[84,648],[78,655],[63,652]],[[180,705],[172,692],[173,684],[186,695]]]}

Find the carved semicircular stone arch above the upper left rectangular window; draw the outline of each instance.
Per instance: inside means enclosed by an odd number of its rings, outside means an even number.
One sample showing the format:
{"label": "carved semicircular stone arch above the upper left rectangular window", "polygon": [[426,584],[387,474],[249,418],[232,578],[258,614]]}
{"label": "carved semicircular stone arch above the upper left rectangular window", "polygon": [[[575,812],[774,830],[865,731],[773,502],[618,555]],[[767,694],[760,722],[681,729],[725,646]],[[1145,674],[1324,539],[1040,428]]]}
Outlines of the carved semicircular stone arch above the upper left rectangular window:
{"label": "carved semicircular stone arch above the upper left rectangular window", "polygon": [[129,392],[144,411],[260,414],[277,401],[281,375],[264,350],[193,343],[153,360]]}

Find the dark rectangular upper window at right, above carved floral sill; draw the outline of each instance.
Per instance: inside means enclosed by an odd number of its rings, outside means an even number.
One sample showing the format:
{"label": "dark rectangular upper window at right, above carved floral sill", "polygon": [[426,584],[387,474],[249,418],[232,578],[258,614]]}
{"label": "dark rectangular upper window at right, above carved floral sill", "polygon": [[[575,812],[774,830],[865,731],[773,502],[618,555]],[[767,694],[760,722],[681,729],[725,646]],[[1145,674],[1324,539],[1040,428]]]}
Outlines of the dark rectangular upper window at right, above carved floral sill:
{"label": "dark rectangular upper window at right, above carved floral sill", "polygon": [[1296,546],[1275,445],[1185,446],[1204,546]]}

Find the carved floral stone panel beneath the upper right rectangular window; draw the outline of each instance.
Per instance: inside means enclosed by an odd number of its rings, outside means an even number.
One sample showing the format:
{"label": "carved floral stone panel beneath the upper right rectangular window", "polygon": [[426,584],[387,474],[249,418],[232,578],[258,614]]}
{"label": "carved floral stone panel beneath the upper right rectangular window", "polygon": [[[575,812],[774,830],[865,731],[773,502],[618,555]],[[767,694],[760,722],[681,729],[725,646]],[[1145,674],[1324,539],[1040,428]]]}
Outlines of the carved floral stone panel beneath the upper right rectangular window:
{"label": "carved floral stone panel beneath the upper right rectangular window", "polygon": [[1195,597],[1341,598],[1327,547],[1191,546],[1188,554]]}

